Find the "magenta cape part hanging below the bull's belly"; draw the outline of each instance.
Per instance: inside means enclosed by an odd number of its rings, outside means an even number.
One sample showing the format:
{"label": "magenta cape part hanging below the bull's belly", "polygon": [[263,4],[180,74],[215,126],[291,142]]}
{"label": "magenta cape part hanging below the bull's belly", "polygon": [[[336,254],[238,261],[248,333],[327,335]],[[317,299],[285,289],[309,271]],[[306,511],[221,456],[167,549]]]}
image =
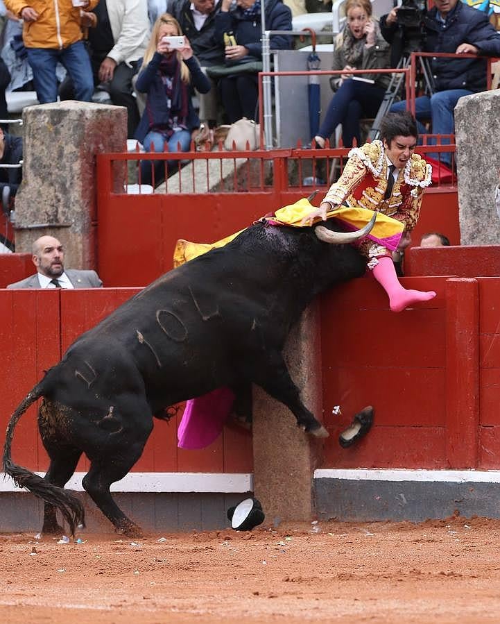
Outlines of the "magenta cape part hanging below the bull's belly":
{"label": "magenta cape part hanging below the bull's belly", "polygon": [[221,435],[234,402],[234,392],[217,388],[186,403],[177,431],[179,448],[205,448]]}

